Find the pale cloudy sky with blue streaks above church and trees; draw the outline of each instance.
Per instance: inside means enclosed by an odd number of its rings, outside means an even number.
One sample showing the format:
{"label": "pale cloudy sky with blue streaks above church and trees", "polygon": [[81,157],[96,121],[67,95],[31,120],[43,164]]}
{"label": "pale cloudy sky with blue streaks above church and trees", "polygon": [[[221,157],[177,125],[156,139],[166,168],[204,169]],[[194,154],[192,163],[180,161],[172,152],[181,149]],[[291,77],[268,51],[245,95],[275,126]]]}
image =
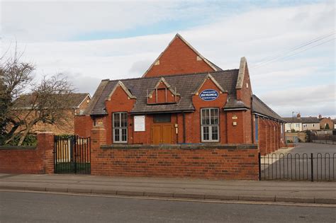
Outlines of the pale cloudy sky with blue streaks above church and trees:
{"label": "pale cloudy sky with blue streaks above church and trees", "polygon": [[1,55],[79,92],[140,77],[179,33],[222,69],[247,58],[252,91],[282,117],[336,118],[335,1],[4,1]]}

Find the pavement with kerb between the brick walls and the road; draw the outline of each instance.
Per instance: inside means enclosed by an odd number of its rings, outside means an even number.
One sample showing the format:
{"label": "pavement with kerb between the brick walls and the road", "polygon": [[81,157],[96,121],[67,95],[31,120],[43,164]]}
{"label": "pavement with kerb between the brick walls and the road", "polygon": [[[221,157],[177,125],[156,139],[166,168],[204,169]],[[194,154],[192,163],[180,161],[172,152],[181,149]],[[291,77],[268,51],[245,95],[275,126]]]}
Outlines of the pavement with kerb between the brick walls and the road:
{"label": "pavement with kerb between the brick walls and the road", "polygon": [[0,190],[336,205],[336,182],[0,173]]}

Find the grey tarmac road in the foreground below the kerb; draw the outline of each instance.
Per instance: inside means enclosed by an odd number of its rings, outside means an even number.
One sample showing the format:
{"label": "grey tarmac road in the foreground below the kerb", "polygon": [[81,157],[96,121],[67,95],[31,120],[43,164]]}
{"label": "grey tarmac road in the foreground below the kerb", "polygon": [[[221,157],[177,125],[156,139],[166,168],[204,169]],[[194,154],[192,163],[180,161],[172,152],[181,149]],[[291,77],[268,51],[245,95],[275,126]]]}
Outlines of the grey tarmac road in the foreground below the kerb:
{"label": "grey tarmac road in the foreground below the kerb", "polygon": [[335,222],[336,208],[0,191],[0,222]]}

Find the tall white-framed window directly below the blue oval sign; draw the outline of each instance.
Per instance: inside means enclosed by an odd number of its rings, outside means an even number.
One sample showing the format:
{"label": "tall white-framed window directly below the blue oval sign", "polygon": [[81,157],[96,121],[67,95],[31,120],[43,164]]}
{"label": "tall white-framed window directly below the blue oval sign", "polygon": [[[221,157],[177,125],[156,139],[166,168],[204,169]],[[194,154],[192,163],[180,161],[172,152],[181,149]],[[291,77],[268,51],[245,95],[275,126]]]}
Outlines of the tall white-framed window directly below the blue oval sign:
{"label": "tall white-framed window directly below the blue oval sign", "polygon": [[219,115],[218,108],[201,109],[201,141],[219,141]]}

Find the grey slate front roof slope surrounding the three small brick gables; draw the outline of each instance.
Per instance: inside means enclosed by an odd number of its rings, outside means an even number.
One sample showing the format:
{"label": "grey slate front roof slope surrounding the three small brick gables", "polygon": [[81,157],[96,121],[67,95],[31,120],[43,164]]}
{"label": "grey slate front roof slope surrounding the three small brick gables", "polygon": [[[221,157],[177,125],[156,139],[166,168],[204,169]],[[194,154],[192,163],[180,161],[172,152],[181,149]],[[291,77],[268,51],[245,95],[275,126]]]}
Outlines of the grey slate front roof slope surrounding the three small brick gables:
{"label": "grey slate front roof slope surrounding the three small brick gables", "polygon": [[180,94],[180,100],[176,104],[164,104],[164,105],[147,105],[147,89],[155,87],[157,81],[161,79],[161,76],[135,78],[135,79],[121,79],[108,81],[106,86],[103,86],[103,90],[99,88],[101,93],[95,93],[92,101],[92,108],[87,112],[90,115],[106,115],[105,101],[109,93],[111,93],[113,87],[122,81],[123,84],[130,90],[130,92],[137,97],[135,105],[131,113],[156,113],[156,112],[178,112],[178,111],[192,111],[194,105],[192,104],[192,93],[203,82],[207,74],[211,74],[213,78],[218,81],[220,86],[225,91],[228,91],[230,98],[235,98],[235,85],[237,81],[238,69],[231,69],[218,72],[205,72],[198,74],[178,74],[164,76],[167,83],[172,88],[177,89],[177,93]]}

